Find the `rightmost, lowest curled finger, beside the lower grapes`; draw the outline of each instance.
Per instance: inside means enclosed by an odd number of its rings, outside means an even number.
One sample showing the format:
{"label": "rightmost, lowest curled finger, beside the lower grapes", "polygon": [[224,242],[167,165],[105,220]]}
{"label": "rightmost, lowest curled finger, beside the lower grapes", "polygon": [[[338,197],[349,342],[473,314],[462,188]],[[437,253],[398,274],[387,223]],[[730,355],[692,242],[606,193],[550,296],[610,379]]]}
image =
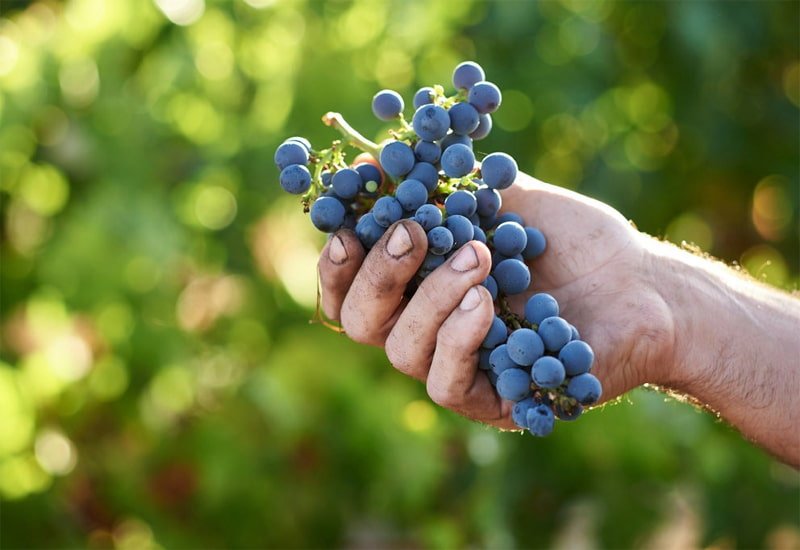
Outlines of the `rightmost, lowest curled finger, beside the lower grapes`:
{"label": "rightmost, lowest curled finger, beside the lower grapes", "polygon": [[478,348],[494,318],[489,291],[474,286],[442,323],[428,372],[431,399],[457,413],[499,428],[515,428],[510,401],[505,401],[478,369]]}

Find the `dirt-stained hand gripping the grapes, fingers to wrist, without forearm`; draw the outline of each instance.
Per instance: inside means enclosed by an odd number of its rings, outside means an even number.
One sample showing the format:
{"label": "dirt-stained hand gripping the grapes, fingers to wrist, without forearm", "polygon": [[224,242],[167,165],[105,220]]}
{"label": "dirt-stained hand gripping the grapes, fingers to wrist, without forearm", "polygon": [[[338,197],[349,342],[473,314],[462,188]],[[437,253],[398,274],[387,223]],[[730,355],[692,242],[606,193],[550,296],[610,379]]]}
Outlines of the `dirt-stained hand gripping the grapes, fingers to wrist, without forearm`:
{"label": "dirt-stained hand gripping the grapes, fingers to wrist, without forearm", "polygon": [[[595,350],[604,399],[658,383],[673,330],[650,276],[645,237],[610,207],[528,176],[504,191],[503,200],[548,239],[532,264],[532,289],[512,307],[521,312],[533,292],[555,296],[562,315]],[[489,251],[478,242],[465,245],[409,299],[406,285],[426,249],[424,231],[409,220],[392,226],[366,256],[352,232],[338,232],[319,262],[323,310],[355,341],[384,346],[392,365],[425,381],[436,403],[512,428],[512,404],[477,369],[493,316],[491,297],[480,286],[491,267]]]}

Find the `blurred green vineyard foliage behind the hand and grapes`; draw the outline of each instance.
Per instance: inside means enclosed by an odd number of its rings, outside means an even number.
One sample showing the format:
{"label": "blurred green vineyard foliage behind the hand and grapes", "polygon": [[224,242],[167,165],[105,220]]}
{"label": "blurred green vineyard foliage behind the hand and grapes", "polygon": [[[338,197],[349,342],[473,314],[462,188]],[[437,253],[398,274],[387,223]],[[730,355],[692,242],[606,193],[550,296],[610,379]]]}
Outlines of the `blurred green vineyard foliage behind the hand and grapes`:
{"label": "blurred green vineyard foliage behind the hand and grapes", "polygon": [[793,290],[800,3],[0,11],[4,547],[800,547],[798,473],[688,404],[502,434],[309,324],[324,235],[272,162],[474,59],[479,151]]}

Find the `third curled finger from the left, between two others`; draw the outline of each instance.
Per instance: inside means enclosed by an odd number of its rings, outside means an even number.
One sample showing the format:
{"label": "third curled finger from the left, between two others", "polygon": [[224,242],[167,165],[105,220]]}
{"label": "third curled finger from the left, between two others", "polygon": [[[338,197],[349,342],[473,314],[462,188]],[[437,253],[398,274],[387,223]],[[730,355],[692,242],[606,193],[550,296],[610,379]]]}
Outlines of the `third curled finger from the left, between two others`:
{"label": "third curled finger from the left, between two others", "polygon": [[467,290],[486,279],[491,267],[489,249],[472,241],[434,270],[419,286],[386,339],[389,362],[399,371],[425,380],[439,326],[458,307]]}

